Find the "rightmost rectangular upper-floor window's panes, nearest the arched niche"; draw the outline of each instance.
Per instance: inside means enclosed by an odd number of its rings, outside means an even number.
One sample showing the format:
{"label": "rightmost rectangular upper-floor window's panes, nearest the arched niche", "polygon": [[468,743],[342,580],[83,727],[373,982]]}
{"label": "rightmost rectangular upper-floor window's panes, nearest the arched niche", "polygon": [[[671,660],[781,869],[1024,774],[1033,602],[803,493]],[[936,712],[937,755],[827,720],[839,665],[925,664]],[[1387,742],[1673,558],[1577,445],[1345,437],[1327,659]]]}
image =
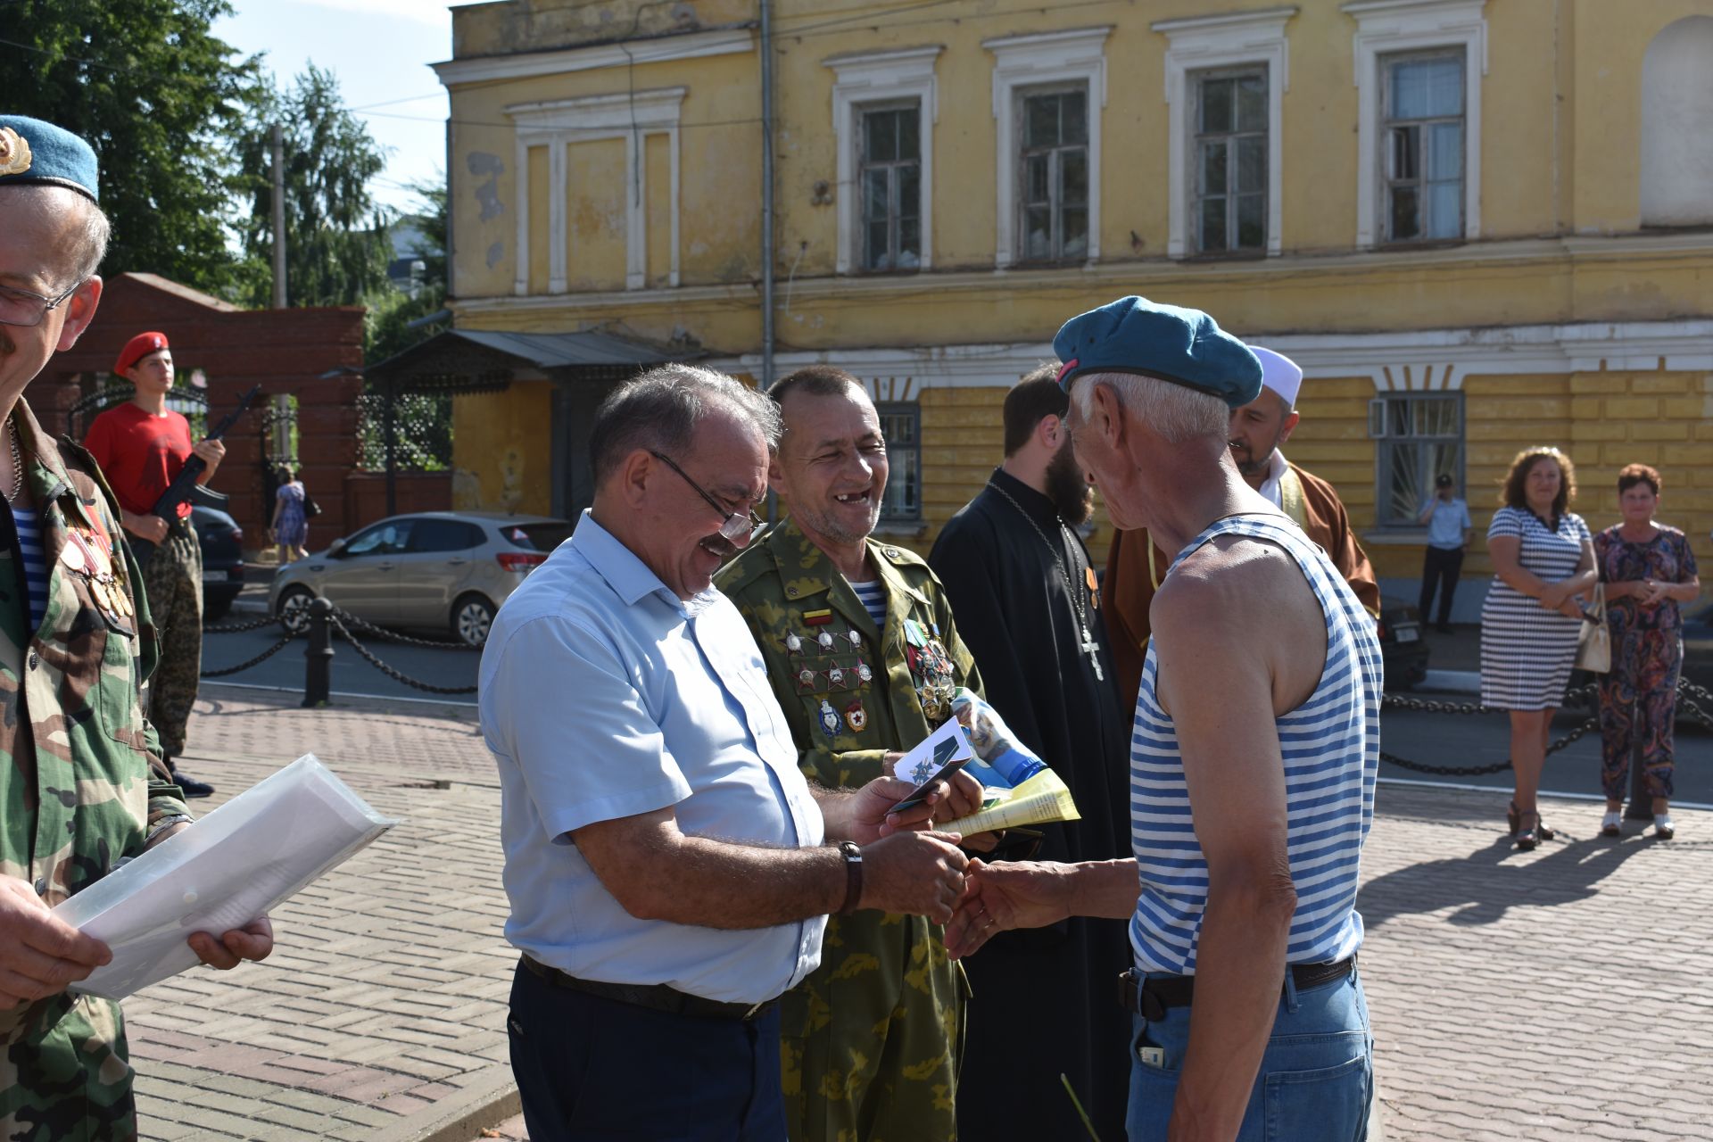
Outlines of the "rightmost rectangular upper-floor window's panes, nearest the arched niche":
{"label": "rightmost rectangular upper-floor window's panes, nearest the arched niche", "polygon": [[1381,58],[1386,241],[1463,236],[1463,51]]}

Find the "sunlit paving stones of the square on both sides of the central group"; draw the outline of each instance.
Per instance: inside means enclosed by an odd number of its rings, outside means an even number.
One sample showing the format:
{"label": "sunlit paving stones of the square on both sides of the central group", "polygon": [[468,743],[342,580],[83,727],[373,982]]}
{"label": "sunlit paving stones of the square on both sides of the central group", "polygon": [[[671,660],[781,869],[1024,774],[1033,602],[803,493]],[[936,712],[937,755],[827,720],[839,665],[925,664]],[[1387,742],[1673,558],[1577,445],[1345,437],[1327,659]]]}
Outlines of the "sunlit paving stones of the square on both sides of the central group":
{"label": "sunlit paving stones of the square on both sides of the central group", "polygon": [[[404,824],[279,909],[267,962],[127,1002],[144,1137],[524,1139],[447,1128],[505,1089],[516,962],[475,711],[211,685],[190,731],[185,769],[221,788],[197,812],[313,752]],[[1360,907],[1386,1142],[1713,1139],[1713,813],[1660,842],[1600,839],[1595,801],[1545,812],[1559,839],[1523,854],[1502,794],[1381,786]]]}

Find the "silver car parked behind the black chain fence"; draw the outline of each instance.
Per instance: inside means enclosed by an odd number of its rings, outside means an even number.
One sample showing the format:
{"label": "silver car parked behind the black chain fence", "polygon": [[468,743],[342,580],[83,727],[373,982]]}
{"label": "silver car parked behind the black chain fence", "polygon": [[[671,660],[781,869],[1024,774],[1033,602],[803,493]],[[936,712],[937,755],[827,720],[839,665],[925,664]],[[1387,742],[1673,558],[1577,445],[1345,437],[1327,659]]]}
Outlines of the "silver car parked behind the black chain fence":
{"label": "silver car parked behind the black chain fence", "polygon": [[322,596],[380,627],[442,630],[481,645],[500,603],[570,527],[498,512],[392,515],[279,568],[269,608],[301,632],[310,599]]}

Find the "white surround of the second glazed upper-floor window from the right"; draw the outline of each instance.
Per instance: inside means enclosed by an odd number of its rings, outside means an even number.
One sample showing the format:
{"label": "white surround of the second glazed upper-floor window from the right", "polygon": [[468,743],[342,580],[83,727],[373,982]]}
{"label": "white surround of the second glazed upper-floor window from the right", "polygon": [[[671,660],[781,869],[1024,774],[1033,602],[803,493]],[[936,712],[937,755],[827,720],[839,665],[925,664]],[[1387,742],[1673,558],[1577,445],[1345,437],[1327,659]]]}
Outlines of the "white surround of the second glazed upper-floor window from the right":
{"label": "white surround of the second glazed upper-floor window from the right", "polygon": [[[1170,219],[1167,229],[1167,257],[1191,257],[1191,144],[1194,130],[1191,115],[1196,99],[1191,98],[1191,75],[1227,67],[1261,63],[1268,72],[1268,257],[1285,248],[1283,228],[1283,96],[1290,91],[1290,45],[1285,39],[1285,22],[1297,15],[1295,7],[1266,9],[1262,12],[1235,12],[1228,15],[1197,15],[1184,21],[1151,24],[1167,38],[1167,104],[1170,113],[1168,192]],[[1235,257],[1235,255],[1232,255]]]}

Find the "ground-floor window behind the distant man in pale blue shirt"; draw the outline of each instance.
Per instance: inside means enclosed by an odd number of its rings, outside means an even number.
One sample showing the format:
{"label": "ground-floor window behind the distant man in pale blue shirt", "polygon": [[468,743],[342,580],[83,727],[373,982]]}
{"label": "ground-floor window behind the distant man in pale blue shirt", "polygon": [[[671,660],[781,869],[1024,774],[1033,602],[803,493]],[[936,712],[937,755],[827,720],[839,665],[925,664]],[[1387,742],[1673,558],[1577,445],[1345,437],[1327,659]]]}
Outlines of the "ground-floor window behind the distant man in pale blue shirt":
{"label": "ground-floor window behind the distant man in pale blue shirt", "polygon": [[1376,397],[1369,402],[1369,435],[1377,443],[1381,527],[1415,527],[1437,476],[1463,486],[1461,392]]}

